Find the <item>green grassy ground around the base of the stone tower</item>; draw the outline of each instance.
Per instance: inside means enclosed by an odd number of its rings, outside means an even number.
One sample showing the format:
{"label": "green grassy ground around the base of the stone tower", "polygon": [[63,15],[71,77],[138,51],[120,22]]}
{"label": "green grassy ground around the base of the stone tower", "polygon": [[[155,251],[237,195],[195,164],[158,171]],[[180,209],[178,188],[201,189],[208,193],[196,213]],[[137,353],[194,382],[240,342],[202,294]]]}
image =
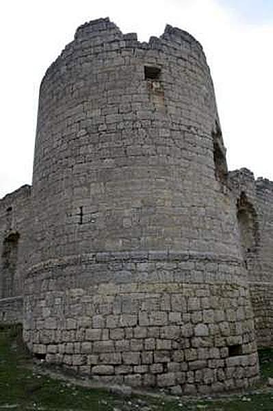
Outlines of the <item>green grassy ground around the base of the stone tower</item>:
{"label": "green grassy ground around the base of the stone tower", "polygon": [[218,399],[124,397],[105,390],[83,388],[34,371],[21,340],[21,327],[0,327],[0,411],[272,411],[273,349],[260,351],[261,385],[253,393]]}

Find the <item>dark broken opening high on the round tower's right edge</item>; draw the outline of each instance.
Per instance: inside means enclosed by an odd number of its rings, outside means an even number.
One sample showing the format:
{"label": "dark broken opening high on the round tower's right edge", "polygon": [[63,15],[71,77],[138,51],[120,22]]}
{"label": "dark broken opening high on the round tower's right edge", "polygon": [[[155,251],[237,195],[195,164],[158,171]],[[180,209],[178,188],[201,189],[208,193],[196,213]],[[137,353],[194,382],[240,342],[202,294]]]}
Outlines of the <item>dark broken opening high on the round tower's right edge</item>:
{"label": "dark broken opening high on the round tower's right edge", "polygon": [[228,167],[226,164],[225,148],[222,142],[222,132],[217,122],[216,129],[212,132],[212,137],[214,174],[220,184],[226,185],[228,177]]}

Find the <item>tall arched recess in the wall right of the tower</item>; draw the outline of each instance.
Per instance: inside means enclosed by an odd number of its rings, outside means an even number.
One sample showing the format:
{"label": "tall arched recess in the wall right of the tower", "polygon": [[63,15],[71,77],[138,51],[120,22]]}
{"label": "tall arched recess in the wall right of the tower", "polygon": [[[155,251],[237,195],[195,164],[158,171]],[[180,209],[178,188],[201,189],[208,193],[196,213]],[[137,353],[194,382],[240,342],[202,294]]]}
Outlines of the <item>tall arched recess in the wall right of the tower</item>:
{"label": "tall arched recess in the wall right of the tower", "polygon": [[237,200],[237,221],[242,249],[242,256],[246,266],[256,257],[259,245],[259,225],[257,213],[243,191]]}

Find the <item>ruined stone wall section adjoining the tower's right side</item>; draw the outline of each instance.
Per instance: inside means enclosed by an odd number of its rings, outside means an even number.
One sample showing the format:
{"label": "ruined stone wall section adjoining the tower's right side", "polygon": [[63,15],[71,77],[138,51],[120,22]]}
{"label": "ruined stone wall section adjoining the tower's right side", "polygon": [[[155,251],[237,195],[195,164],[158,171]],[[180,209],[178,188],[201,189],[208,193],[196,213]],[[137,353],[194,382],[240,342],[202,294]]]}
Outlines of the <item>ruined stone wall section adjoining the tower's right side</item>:
{"label": "ruined stone wall section adjoining the tower's right side", "polygon": [[[242,256],[248,272],[258,347],[273,344],[273,183],[247,169],[229,173]],[[241,214],[240,214],[241,213]],[[240,222],[240,216],[242,221]],[[240,227],[240,224],[244,227]],[[245,243],[245,244],[244,244]]]}

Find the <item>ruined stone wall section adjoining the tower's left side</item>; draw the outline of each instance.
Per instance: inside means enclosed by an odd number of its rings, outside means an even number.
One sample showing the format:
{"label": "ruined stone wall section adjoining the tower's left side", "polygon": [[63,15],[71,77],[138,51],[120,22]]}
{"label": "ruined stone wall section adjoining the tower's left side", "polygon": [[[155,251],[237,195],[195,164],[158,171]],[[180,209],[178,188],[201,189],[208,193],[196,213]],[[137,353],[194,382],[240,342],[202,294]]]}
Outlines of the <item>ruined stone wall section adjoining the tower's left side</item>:
{"label": "ruined stone wall section adjoining the tower's left side", "polygon": [[23,320],[23,282],[30,246],[31,187],[0,199],[0,321]]}

